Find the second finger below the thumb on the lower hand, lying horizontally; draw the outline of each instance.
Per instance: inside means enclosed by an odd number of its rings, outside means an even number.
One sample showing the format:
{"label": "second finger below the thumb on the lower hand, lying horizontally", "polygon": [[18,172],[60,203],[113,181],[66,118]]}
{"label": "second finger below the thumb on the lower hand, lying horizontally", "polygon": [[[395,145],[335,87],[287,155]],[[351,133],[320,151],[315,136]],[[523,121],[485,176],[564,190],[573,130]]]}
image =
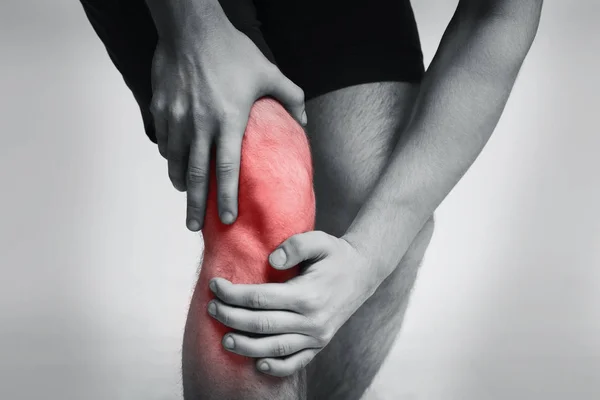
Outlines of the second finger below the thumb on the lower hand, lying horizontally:
{"label": "second finger below the thumb on the lower hand, lying horizontally", "polygon": [[311,325],[304,316],[290,311],[254,311],[232,307],[215,299],[208,303],[208,313],[223,325],[248,333],[310,334],[311,331]]}

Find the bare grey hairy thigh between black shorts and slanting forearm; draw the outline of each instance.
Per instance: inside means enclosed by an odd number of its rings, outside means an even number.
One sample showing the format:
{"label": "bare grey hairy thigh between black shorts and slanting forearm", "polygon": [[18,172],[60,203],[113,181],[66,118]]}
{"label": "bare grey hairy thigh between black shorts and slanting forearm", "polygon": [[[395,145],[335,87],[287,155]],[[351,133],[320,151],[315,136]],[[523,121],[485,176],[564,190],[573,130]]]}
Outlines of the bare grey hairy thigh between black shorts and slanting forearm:
{"label": "bare grey hairy thigh between black shorts and slanting forearm", "polygon": [[345,232],[387,165],[418,90],[404,82],[361,84],[306,103],[319,229]]}

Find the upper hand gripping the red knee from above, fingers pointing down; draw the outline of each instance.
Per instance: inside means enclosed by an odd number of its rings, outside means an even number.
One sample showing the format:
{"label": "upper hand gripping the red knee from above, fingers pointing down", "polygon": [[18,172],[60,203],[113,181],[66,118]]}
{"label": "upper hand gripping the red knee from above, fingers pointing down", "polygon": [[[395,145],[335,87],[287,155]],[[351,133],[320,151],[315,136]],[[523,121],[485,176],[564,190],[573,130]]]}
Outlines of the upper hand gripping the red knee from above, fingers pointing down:
{"label": "upper hand gripping the red knee from above, fingers pointing down", "polygon": [[219,216],[237,218],[242,138],[250,109],[263,96],[276,98],[306,125],[304,92],[272,64],[223,14],[201,33],[159,38],[152,66],[154,116],[160,154],[169,177],[187,190],[187,227],[204,223],[211,145],[216,147]]}

